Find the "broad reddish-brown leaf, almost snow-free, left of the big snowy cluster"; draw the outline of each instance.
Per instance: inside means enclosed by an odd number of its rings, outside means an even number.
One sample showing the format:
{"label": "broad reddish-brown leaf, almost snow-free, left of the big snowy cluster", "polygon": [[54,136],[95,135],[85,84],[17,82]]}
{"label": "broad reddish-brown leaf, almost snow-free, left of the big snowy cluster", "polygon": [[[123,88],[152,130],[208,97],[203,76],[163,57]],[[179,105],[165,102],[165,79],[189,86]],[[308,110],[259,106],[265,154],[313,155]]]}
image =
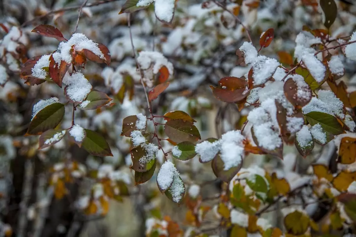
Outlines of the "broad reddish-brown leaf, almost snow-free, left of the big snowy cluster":
{"label": "broad reddish-brown leaf, almost snow-free, left of the big snowy cluster", "polygon": [[245,78],[224,77],[220,79],[218,87],[210,86],[213,95],[223,102],[237,102],[248,95],[248,82]]}

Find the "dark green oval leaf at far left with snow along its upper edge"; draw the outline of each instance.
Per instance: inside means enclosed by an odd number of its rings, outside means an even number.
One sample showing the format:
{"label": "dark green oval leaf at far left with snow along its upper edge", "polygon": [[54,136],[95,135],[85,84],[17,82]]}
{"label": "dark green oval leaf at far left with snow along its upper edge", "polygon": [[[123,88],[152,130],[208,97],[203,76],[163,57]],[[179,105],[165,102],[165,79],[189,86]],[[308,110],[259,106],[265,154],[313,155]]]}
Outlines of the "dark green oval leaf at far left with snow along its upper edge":
{"label": "dark green oval leaf at far left with snow along its upper edge", "polygon": [[41,135],[49,129],[54,129],[62,121],[64,104],[53,103],[46,106],[33,117],[26,135]]}

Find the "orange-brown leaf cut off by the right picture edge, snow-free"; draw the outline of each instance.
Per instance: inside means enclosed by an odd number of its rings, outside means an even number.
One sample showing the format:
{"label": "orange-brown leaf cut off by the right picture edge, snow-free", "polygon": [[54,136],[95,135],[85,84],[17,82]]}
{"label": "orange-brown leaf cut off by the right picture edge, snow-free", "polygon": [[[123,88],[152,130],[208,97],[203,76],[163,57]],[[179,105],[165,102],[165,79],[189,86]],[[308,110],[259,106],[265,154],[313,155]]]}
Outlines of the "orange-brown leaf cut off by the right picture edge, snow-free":
{"label": "orange-brown leaf cut off by the right picture edge, snow-free", "polygon": [[356,138],[343,137],[337,159],[341,164],[352,164],[356,161]]}

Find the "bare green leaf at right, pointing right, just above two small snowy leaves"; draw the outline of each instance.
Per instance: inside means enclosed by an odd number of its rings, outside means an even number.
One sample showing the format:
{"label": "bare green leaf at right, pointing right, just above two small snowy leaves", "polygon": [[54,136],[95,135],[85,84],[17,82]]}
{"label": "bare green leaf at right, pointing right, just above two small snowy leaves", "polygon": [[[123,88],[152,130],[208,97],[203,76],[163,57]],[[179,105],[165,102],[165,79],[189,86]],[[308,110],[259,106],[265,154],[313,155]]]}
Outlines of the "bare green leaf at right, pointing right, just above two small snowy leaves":
{"label": "bare green leaf at right, pointing right, just above two small snowy leaves", "polygon": [[310,125],[314,126],[320,123],[324,131],[330,132],[333,135],[345,133],[344,128],[337,121],[336,117],[319,111],[312,111],[305,115]]}

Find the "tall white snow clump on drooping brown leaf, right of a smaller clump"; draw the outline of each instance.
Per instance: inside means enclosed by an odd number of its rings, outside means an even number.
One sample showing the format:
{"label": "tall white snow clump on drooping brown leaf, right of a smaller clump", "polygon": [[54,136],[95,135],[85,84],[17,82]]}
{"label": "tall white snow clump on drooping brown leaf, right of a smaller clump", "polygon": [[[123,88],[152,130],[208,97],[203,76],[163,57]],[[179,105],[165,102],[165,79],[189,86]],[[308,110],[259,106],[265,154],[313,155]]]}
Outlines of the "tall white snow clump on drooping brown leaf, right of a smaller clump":
{"label": "tall white snow clump on drooping brown leaf, right of a smaller clump", "polygon": [[241,164],[244,157],[244,136],[240,130],[229,131],[221,136],[220,151],[221,160],[224,162],[224,170],[229,170]]}

